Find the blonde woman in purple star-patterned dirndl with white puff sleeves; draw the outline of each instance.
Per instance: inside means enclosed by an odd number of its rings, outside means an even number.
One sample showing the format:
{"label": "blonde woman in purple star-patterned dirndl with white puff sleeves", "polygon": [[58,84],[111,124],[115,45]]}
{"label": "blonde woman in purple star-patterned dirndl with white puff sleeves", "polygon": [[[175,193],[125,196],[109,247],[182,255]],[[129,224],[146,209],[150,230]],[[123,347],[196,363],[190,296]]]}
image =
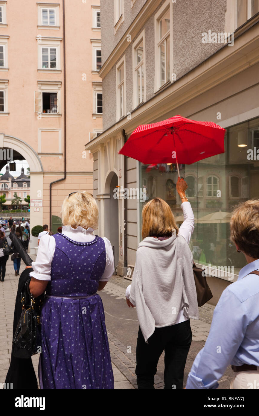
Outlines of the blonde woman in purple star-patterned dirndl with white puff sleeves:
{"label": "blonde woman in purple star-patterned dirndl with white puff sleeves", "polygon": [[93,235],[96,201],[75,192],[62,205],[62,233],[44,235],[30,282],[46,290],[41,312],[41,389],[113,389],[113,371],[101,297],[114,271],[111,243]]}

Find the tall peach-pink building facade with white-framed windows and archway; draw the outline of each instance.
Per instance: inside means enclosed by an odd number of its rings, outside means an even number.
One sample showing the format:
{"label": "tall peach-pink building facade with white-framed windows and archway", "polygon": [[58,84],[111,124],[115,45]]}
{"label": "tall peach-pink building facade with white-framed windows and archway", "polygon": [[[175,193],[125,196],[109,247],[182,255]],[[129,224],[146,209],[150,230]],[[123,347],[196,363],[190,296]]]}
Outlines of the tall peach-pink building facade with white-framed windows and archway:
{"label": "tall peach-pink building facade with white-framed windows and archway", "polygon": [[28,0],[22,15],[0,1],[0,149],[30,166],[31,228],[56,230],[64,197],[93,192],[84,145],[102,131],[100,30],[99,1]]}

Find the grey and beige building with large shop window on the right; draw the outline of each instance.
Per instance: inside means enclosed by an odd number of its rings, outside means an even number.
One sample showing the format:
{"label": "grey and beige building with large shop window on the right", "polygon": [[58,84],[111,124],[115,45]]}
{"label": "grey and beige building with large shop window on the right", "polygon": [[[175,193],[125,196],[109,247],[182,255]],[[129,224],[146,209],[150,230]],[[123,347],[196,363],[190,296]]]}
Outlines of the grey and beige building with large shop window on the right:
{"label": "grey and beige building with large shop window on the right", "polygon": [[136,127],[176,114],[219,124],[225,153],[180,166],[196,222],[190,247],[210,273],[216,304],[245,264],[229,239],[233,206],[259,197],[258,2],[101,0],[101,13],[109,16],[99,73],[104,131],[86,144],[94,157],[99,234],[114,246],[118,274],[130,277],[145,201],[122,192],[114,199],[116,186],[145,188],[147,199],[165,199],[183,222],[176,167],[149,168],[118,154]]}

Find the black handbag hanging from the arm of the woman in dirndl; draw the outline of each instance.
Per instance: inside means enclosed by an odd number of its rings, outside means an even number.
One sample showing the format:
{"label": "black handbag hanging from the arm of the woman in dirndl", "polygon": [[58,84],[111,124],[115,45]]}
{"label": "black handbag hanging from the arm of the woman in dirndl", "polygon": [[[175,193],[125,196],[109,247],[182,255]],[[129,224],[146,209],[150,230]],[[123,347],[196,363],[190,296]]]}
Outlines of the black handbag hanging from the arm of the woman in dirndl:
{"label": "black handbag hanging from the arm of the woman in dirndl", "polygon": [[16,358],[30,358],[41,352],[39,315],[44,293],[37,298],[32,297],[29,284],[30,279],[25,283],[22,293],[22,314],[12,341],[12,353]]}

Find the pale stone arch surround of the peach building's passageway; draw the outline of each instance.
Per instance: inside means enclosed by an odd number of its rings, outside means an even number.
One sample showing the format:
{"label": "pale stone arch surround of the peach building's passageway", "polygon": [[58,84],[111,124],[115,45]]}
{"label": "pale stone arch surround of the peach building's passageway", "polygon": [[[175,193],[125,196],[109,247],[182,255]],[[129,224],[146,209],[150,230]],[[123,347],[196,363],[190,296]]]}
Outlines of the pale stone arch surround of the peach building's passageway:
{"label": "pale stone arch surround of the peach building's passageway", "polygon": [[[37,152],[30,145],[14,136],[0,134],[0,149],[12,149],[21,154],[30,166],[30,197],[42,199],[43,196],[43,166]],[[6,163],[6,162],[5,162]],[[30,229],[35,225],[42,225],[43,208],[39,212],[30,210]]]}

